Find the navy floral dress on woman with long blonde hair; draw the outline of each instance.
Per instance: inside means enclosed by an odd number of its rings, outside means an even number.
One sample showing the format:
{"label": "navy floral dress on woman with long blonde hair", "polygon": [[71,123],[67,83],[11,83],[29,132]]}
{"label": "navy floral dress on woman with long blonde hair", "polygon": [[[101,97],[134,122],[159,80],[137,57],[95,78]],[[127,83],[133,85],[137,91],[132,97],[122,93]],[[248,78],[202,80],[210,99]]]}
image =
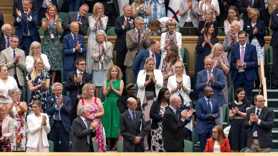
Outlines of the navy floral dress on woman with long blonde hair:
{"label": "navy floral dress on woman with long blonde hair", "polygon": [[[46,79],[50,79],[52,76],[48,72],[42,72],[42,74],[40,74],[40,76],[37,76],[35,78],[35,80],[32,81],[33,86],[39,85],[40,82],[44,80],[44,77]],[[26,76],[26,80],[31,80],[30,73]],[[44,90],[43,87],[40,87],[38,90],[31,92],[27,115],[30,115],[33,113],[32,104],[35,100],[40,100],[42,102],[42,111],[43,111],[43,113],[46,113],[46,99],[48,98],[48,96],[49,96],[48,91]]]}

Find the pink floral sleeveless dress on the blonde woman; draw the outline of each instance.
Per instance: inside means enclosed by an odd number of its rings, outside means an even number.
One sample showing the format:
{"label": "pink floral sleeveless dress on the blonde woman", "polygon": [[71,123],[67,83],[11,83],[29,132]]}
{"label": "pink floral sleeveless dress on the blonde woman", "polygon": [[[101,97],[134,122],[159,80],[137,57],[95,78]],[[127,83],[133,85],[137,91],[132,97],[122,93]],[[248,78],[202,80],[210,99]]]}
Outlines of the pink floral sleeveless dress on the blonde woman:
{"label": "pink floral sleeveless dress on the blonde woman", "polygon": [[[86,104],[84,103],[84,99],[82,100],[82,105],[85,106]],[[95,101],[93,104],[90,106],[87,106],[89,110],[89,116],[94,115],[99,113],[99,106],[97,105],[97,98],[95,97]],[[104,137],[103,137],[103,128],[102,128],[102,123],[100,118],[94,118],[93,120],[89,119],[92,123],[98,120],[98,125],[97,125],[97,135],[93,138],[93,141],[96,141],[98,143],[98,152],[106,152],[106,149],[104,148]]]}

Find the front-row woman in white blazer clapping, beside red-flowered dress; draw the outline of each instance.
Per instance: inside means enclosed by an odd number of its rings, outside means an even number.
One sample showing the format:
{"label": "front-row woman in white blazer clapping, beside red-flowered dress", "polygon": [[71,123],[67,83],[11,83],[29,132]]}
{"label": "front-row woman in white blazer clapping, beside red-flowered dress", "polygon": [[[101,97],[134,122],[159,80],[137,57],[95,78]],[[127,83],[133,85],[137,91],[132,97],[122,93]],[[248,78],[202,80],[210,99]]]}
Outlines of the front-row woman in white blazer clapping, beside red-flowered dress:
{"label": "front-row woman in white blazer clapping, beside red-flowered dress", "polygon": [[42,104],[36,100],[32,104],[33,114],[27,116],[28,141],[26,152],[49,152],[47,134],[50,132],[48,115],[42,113]]}

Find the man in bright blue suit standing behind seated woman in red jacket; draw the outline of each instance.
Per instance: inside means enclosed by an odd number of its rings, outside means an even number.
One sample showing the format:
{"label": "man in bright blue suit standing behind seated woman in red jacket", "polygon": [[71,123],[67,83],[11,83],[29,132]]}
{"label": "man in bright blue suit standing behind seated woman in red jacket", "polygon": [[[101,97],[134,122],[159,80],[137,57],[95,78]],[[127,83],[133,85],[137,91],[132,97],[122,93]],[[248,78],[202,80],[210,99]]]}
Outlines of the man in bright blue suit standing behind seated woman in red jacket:
{"label": "man in bright blue suit standing behind seated woman in red jacket", "polygon": [[212,127],[216,125],[215,119],[219,118],[218,101],[213,99],[213,89],[204,88],[205,96],[196,101],[195,109],[198,122],[195,127],[195,133],[198,134],[200,141],[200,152],[206,147],[207,139],[212,135]]}

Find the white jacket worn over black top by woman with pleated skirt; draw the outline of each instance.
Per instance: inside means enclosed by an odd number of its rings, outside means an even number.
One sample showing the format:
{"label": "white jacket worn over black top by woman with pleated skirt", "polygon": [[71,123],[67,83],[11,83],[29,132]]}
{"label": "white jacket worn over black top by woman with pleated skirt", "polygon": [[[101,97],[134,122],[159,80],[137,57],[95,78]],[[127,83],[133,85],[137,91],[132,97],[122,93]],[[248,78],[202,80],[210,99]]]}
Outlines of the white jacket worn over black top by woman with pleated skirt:
{"label": "white jacket worn over black top by woman with pleated skirt", "polygon": [[[137,86],[138,86],[138,93],[137,97],[141,101],[141,105],[143,104],[144,96],[145,96],[145,88],[144,83],[146,82],[146,75],[147,72],[144,72],[145,70],[140,70],[138,77],[137,77]],[[161,70],[155,69],[154,70],[154,78],[156,79],[156,97],[158,96],[159,90],[163,86],[163,76]]]}

